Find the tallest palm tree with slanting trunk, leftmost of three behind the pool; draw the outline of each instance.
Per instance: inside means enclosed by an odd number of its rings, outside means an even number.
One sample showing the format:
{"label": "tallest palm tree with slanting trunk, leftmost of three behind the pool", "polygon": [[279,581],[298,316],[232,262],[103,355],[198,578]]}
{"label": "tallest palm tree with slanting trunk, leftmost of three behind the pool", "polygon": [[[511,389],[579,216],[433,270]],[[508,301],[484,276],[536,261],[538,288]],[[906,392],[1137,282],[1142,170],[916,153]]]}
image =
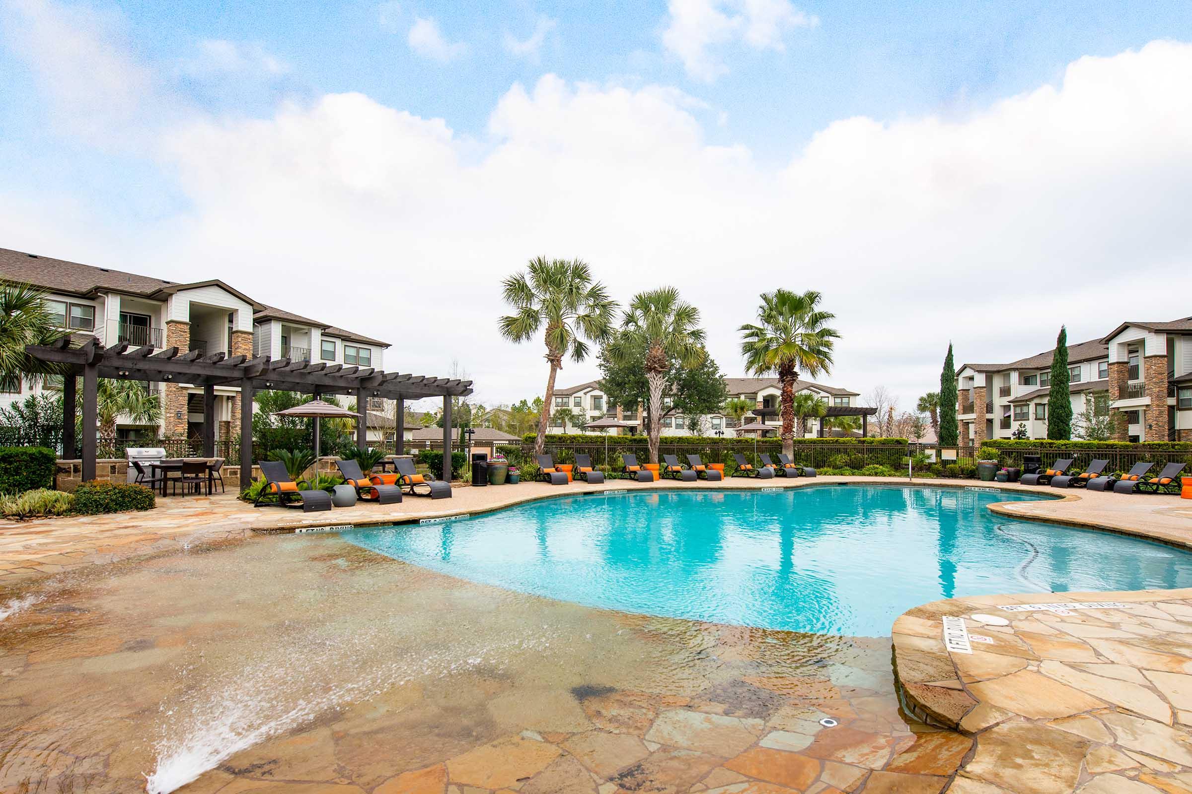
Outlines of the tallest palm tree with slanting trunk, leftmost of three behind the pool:
{"label": "tallest palm tree with slanting trunk, leftmost of three behind the pool", "polygon": [[504,281],[505,302],[516,314],[502,317],[501,335],[513,342],[528,342],[545,326],[546,361],[551,375],[546,381],[546,399],[538,420],[535,455],[542,454],[546,429],[554,402],[554,376],[563,367],[563,357],[581,362],[588,356],[589,342],[604,342],[613,331],[616,301],[608,296],[604,286],[592,281],[591,270],[579,260],[530,260],[524,273]]}

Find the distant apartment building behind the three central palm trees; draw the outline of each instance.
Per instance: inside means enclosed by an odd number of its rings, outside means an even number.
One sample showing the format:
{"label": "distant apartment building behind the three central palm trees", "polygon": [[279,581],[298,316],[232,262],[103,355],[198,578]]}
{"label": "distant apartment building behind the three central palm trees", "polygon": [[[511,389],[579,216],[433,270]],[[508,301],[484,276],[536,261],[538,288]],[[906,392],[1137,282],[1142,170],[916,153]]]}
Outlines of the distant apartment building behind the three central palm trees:
{"label": "distant apartment building behind the three central palm trees", "polygon": [[[782,388],[778,383],[778,379],[726,377],[725,386],[728,389],[730,398],[745,399],[756,406],[750,414],[746,414],[744,423],[760,421],[766,425],[772,425],[775,433],[782,429],[782,418],[778,415]],[[868,413],[871,413],[871,409],[861,408],[858,406],[858,399],[861,395],[857,392],[850,392],[849,389],[837,388],[833,386],[812,383],[811,381],[796,381],[795,393],[799,392],[808,392],[822,399],[827,405],[827,415],[830,417],[865,417],[868,415],[867,411]],[[555,413],[559,408],[569,408],[571,411],[571,417],[566,419],[560,418]],[[586,383],[554,390],[554,406],[551,414],[551,432],[597,432],[584,431],[583,426],[589,421],[594,421],[606,415],[615,417],[621,421],[638,423],[638,431],[627,430],[627,433],[642,432],[645,429],[640,423],[644,420],[644,408],[645,406],[626,407],[610,405],[608,395],[606,395],[600,388],[600,382],[588,381]],[[699,417],[696,418],[697,426],[695,427],[691,426],[691,417],[684,417],[677,413],[670,413],[663,417],[663,436],[722,434],[734,437],[738,434],[737,427],[741,424],[724,413],[712,413]],[[807,420],[808,437],[819,436],[822,433],[822,430],[824,429],[819,419],[809,418]]]}

